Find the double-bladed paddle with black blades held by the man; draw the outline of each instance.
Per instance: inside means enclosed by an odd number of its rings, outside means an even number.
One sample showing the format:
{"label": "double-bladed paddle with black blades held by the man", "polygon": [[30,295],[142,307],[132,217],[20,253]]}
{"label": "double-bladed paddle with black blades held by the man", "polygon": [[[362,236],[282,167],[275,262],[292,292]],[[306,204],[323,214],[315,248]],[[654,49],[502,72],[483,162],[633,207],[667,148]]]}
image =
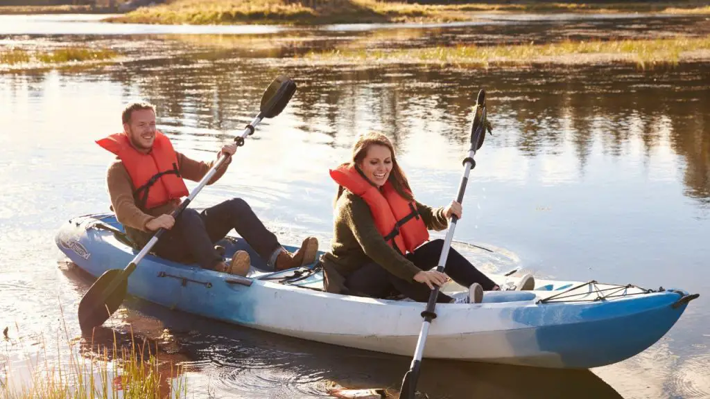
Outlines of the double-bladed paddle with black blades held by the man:
{"label": "double-bladed paddle with black blades held by the man", "polygon": [[[280,76],[277,77],[264,91],[261,97],[261,104],[259,107],[259,113],[256,118],[251,121],[251,124],[246,125],[244,131],[239,136],[234,138],[238,146],[244,145],[244,138],[254,133],[254,128],[258,125],[264,118],[273,118],[283,111],[286,104],[293,97],[293,93],[296,91],[296,84],[290,77]],[[202,177],[197,187],[195,187],[190,195],[182,201],[182,204],[175,209],[173,212],[173,217],[177,219],[180,213],[187,208],[192,200],[195,199],[200,190],[204,185],[207,185],[212,176],[217,173],[217,169],[222,166],[224,161],[229,158],[230,155],[219,157],[217,163],[215,163],[212,168],[207,172],[207,175]],[[160,236],[165,233],[165,229],[158,229],[148,241],[148,244],[138,252],[131,263],[126,266],[123,270],[110,269],[106,270],[104,274],[99,277],[94,284],[89,288],[87,293],[82,297],[81,302],[79,302],[79,325],[84,332],[90,331],[93,327],[97,327],[103,324],[111,315],[116,312],[119,308],[121,302],[123,302],[124,297],[126,297],[126,290],[128,290],[128,278],[133,270],[136,270],[138,262],[140,262],[151,248],[158,242]]]}

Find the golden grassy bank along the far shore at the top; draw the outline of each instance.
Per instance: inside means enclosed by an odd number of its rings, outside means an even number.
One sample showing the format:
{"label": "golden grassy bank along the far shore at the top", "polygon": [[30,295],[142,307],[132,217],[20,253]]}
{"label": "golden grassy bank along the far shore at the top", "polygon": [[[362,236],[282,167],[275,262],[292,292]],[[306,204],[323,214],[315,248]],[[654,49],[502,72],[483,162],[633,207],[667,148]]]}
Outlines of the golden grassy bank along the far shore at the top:
{"label": "golden grassy bank along the far shore at the top", "polygon": [[664,12],[710,13],[709,1],[554,3],[523,1],[483,4],[407,4],[376,0],[171,0],[107,21],[163,24],[447,22],[476,18],[476,12]]}

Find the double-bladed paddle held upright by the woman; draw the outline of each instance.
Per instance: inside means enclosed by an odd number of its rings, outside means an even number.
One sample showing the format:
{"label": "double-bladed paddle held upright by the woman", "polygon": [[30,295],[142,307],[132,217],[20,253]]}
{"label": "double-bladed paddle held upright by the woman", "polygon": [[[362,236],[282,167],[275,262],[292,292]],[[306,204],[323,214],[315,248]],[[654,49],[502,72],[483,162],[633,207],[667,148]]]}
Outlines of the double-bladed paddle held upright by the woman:
{"label": "double-bladed paddle held upright by the woman", "polygon": [[[474,106],[474,121],[471,124],[471,148],[469,149],[469,155],[464,158],[464,176],[461,177],[461,184],[459,185],[459,194],[457,195],[457,202],[459,202],[459,204],[464,200],[466,184],[469,182],[469,172],[471,171],[471,169],[476,167],[474,155],[476,155],[476,151],[478,151],[484,143],[487,128],[489,129],[488,121],[486,121],[486,92],[485,90],[481,89],[481,91],[479,92],[479,97],[476,98],[476,106]],[[457,220],[458,218],[456,217],[456,215],[452,215],[451,224],[449,224],[446,239],[444,240],[442,253],[441,256],[439,256],[439,265],[436,268],[439,273],[444,272],[444,267],[446,266],[446,258],[447,256],[449,256],[449,247],[451,246],[451,241],[454,238],[454,229],[456,229]],[[417,388],[417,379],[419,378],[419,368],[422,363],[422,354],[424,352],[424,345],[427,340],[427,334],[429,333],[429,326],[432,322],[432,319],[435,319],[437,317],[437,314],[434,312],[434,307],[436,305],[438,295],[439,286],[435,285],[431,295],[429,295],[429,302],[427,302],[427,307],[424,312],[422,312],[424,322],[422,322],[422,329],[419,333],[417,349],[415,349],[414,352],[414,359],[412,359],[412,364],[409,368],[409,371],[405,373],[404,379],[402,381],[402,388],[400,389],[399,395],[400,398],[415,399],[415,389]]]}

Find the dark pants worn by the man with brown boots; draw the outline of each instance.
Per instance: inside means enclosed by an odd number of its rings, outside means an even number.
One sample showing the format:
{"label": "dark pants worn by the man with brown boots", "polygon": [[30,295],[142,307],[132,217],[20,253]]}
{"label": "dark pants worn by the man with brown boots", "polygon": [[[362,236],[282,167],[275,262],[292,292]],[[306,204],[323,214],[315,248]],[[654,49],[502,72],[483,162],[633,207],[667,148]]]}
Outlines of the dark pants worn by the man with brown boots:
{"label": "dark pants worn by the man with brown boots", "polygon": [[276,236],[266,229],[261,220],[241,198],[233,198],[198,213],[187,208],[175,220],[172,229],[163,234],[153,251],[176,262],[195,261],[206,269],[214,269],[222,256],[214,243],[224,239],[231,229],[236,230],[254,251],[269,262],[280,248]]}

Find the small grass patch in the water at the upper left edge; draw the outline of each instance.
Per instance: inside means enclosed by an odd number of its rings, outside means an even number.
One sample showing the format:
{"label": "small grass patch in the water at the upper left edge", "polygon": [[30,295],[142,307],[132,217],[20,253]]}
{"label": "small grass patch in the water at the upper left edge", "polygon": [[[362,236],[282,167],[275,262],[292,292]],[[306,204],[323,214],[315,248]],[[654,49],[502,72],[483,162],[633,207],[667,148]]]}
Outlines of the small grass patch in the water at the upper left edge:
{"label": "small grass patch in the water at the upper left edge", "polygon": [[108,49],[60,48],[58,50],[28,51],[23,49],[0,50],[0,65],[61,64],[65,62],[102,61],[116,58],[119,54]]}

